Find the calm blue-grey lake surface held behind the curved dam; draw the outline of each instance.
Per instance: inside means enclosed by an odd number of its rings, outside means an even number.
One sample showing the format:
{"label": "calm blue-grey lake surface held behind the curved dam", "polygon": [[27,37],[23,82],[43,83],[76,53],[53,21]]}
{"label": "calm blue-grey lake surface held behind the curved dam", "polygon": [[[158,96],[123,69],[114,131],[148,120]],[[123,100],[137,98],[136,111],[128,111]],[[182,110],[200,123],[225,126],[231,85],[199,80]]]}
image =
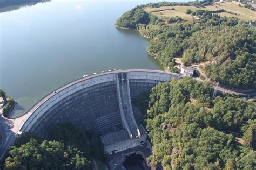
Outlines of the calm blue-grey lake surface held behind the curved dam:
{"label": "calm blue-grey lake surface held behind the curved dam", "polygon": [[122,13],[146,3],[50,1],[0,13],[0,88],[18,102],[12,117],[85,74],[163,69],[147,55],[147,39],[113,26]]}

